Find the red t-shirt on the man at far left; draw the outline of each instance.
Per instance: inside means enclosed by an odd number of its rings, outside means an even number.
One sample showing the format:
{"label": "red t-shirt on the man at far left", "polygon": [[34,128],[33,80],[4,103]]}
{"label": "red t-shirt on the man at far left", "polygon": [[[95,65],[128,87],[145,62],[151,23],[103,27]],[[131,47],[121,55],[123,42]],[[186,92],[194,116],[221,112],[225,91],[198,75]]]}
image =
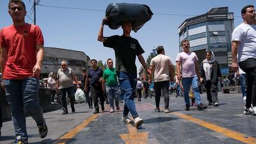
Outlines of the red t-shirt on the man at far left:
{"label": "red t-shirt on the man at far left", "polygon": [[37,25],[10,25],[1,29],[0,45],[7,52],[3,78],[17,80],[32,76],[38,44],[44,45],[44,38]]}

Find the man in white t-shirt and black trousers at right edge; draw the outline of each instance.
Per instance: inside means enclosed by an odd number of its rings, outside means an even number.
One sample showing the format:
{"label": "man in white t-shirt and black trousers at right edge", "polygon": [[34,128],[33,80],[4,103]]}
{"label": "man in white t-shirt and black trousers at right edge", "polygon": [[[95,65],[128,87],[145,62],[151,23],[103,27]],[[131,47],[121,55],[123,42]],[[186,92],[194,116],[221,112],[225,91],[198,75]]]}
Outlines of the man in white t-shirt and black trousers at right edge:
{"label": "man in white t-shirt and black trousers at right edge", "polygon": [[244,114],[256,114],[256,26],[253,5],[241,10],[243,23],[232,33],[232,68],[239,67],[246,73],[247,92]]}

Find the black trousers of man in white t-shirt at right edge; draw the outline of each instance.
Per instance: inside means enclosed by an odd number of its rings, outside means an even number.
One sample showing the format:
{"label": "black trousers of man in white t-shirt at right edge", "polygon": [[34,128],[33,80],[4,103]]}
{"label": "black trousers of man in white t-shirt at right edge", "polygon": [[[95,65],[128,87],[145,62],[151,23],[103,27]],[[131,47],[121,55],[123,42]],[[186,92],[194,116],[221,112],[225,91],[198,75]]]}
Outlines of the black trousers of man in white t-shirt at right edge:
{"label": "black trousers of man in white t-shirt at right edge", "polygon": [[246,108],[256,106],[256,60],[253,58],[239,62],[240,68],[246,73],[247,90],[246,90]]}

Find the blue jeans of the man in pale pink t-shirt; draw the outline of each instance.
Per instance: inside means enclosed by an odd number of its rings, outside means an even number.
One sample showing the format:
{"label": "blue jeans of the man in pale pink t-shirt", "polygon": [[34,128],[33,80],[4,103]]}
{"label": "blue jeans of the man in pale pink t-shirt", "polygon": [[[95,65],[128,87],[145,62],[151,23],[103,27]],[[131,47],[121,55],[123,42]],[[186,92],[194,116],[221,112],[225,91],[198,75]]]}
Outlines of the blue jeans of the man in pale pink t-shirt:
{"label": "blue jeans of the man in pale pink t-shirt", "polygon": [[190,106],[189,96],[188,96],[190,85],[192,86],[192,89],[195,95],[196,104],[197,105],[201,104],[198,77],[194,76],[189,78],[182,78],[182,85],[184,87],[184,99],[185,99],[186,105]]}

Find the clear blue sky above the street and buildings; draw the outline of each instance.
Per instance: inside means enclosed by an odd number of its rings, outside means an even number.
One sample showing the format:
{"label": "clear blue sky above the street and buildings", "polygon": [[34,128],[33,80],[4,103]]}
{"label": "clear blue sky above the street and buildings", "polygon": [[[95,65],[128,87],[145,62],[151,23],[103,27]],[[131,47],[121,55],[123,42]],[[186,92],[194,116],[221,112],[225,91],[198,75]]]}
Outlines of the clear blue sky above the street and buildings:
{"label": "clear blue sky above the street and buildings", "polygon": [[[26,22],[33,24],[33,20],[31,20],[34,17],[33,13],[32,15],[29,14],[33,0],[24,0],[24,3],[28,16]],[[103,62],[106,62],[108,58],[115,60],[113,49],[103,47],[102,43],[97,41],[99,27],[109,3],[147,4],[154,15],[138,32],[132,31],[131,36],[136,38],[145,50],[143,54],[145,60],[153,48],[162,45],[166,55],[171,57],[173,62],[179,53],[178,27],[184,20],[205,14],[211,8],[228,6],[228,11],[234,13],[234,25],[236,27],[243,22],[241,18],[243,6],[256,5],[255,0],[40,0],[41,5],[36,6],[36,25],[40,26],[44,34],[44,46],[83,51],[90,59],[102,60]],[[8,25],[12,25],[12,18],[8,14],[8,0],[0,0],[0,28]],[[116,34],[122,35],[122,29],[112,30],[105,25],[104,36]],[[138,58],[136,59],[136,66],[137,69],[141,67]]]}

